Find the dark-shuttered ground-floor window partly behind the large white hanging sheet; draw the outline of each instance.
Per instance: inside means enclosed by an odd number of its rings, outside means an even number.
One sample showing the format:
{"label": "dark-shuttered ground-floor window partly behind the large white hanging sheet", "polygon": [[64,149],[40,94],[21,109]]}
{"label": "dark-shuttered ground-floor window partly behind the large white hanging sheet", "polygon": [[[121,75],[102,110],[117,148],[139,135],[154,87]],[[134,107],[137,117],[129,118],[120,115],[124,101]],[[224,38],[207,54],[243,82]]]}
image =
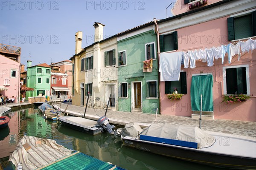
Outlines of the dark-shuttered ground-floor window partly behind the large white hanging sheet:
{"label": "dark-shuttered ground-floor window partly behind the large white hanging sheet", "polygon": [[179,81],[165,82],[165,94],[172,94],[174,88],[177,88],[179,94],[187,94],[186,88],[186,72],[180,72]]}

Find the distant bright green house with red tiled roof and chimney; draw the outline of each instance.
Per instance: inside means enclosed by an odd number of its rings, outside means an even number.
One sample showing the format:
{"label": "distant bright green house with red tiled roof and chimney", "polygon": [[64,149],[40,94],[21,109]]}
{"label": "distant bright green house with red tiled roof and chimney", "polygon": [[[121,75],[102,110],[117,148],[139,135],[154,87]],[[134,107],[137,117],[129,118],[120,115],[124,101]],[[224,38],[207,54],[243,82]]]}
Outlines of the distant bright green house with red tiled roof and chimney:
{"label": "distant bright green house with red tiled roof and chimney", "polygon": [[32,61],[27,61],[27,87],[34,88],[34,91],[26,92],[28,97],[38,96],[39,94],[50,95],[51,89],[51,67],[46,64],[31,66]]}

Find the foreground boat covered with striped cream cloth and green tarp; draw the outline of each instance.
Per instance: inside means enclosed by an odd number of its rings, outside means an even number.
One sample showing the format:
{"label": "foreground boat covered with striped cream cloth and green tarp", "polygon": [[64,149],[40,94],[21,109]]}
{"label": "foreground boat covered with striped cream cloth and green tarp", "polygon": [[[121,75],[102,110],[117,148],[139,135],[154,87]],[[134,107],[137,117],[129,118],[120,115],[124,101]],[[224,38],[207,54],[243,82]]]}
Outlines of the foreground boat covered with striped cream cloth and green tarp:
{"label": "foreground boat covered with striped cream cloth and green tarp", "polygon": [[9,161],[23,170],[98,169],[123,170],[111,163],[65,148],[52,139],[23,136]]}

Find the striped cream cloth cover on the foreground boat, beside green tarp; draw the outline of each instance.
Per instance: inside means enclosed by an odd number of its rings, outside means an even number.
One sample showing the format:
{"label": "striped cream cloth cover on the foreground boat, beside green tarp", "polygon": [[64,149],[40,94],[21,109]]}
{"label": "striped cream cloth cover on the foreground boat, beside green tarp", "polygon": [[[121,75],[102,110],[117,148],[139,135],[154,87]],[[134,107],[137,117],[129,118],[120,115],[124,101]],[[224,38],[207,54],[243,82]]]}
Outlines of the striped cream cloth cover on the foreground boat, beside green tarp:
{"label": "striped cream cloth cover on the foreground boat, beside green tarp", "polygon": [[15,165],[22,164],[23,170],[35,170],[64,156],[73,150],[67,149],[52,139],[41,139],[35,136],[23,136],[17,144],[9,161]]}

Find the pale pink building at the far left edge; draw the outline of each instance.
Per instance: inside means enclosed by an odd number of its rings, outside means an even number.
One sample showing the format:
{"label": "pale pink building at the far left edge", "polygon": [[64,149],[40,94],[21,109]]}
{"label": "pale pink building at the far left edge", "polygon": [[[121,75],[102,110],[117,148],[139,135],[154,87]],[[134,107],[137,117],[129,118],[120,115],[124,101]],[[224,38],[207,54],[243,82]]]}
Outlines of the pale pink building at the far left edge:
{"label": "pale pink building at the far left edge", "polygon": [[[20,63],[0,54],[0,94],[19,102],[20,94]],[[17,99],[18,98],[18,99]]]}

